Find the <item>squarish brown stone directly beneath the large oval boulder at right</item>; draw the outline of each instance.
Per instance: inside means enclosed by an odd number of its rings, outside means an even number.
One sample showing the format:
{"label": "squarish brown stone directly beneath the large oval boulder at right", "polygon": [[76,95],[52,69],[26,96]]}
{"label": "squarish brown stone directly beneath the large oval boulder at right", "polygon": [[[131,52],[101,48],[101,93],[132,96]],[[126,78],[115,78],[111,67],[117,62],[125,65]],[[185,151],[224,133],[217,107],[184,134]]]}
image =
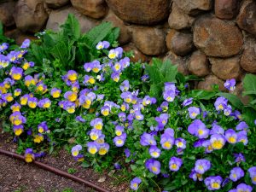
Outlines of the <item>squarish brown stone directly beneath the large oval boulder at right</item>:
{"label": "squarish brown stone directly beneath the large oval boulder at right", "polygon": [[241,68],[239,56],[224,58],[209,58],[212,64],[212,73],[219,79],[240,79]]}

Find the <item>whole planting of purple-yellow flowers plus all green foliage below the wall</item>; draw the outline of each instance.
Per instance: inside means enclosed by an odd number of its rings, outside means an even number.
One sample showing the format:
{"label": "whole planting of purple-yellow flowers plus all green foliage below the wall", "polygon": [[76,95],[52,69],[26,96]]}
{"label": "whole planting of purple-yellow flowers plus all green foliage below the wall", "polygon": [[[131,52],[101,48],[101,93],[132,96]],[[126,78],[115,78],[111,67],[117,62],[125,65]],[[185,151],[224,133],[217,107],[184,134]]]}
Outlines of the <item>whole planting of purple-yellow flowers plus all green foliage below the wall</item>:
{"label": "whole planting of purple-yellow flowers plus all green foliage below the wall", "polygon": [[137,191],[253,191],[255,76],[247,106],[218,87],[190,90],[196,78],[170,61],[132,63],[117,34],[102,24],[81,35],[69,15],[60,32],[0,45],[1,118],[17,152],[31,162],[66,145],[84,167],[123,170]]}

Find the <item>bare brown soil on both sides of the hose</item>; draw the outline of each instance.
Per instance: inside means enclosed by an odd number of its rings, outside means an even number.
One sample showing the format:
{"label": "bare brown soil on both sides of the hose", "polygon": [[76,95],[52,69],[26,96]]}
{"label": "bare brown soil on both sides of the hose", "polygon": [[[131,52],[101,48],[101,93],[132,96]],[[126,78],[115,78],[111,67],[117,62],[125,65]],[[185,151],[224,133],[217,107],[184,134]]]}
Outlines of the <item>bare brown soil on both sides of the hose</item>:
{"label": "bare brown soil on both sides of the hose", "polygon": [[[15,152],[16,144],[12,143],[12,137],[0,132],[0,148]],[[74,175],[82,177],[91,183],[101,186],[113,192],[129,191],[127,183],[114,184],[117,180],[108,176],[108,172],[102,174],[94,172],[91,168],[83,168],[73,160],[73,157],[62,149],[56,155],[46,155],[39,160],[49,166],[54,166],[66,171],[75,169]],[[115,177],[118,172],[114,173]],[[98,182],[100,178],[106,178],[104,182]],[[104,180],[104,179],[103,179]],[[1,192],[92,192],[95,191],[84,184],[75,183],[70,179],[60,177],[47,172],[32,164],[15,160],[0,154],[0,191]]]}

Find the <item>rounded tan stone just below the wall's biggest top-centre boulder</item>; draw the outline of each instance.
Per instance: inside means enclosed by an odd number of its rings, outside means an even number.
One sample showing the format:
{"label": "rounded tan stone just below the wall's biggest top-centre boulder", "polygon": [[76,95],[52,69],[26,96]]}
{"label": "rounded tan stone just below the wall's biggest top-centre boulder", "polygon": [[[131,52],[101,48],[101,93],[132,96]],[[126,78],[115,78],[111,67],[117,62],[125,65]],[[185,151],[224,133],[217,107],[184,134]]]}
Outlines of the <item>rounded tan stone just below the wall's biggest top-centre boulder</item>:
{"label": "rounded tan stone just below the wall's biggest top-centre boulder", "polygon": [[162,29],[148,26],[132,26],[132,39],[145,55],[160,55],[166,52],[166,34]]}

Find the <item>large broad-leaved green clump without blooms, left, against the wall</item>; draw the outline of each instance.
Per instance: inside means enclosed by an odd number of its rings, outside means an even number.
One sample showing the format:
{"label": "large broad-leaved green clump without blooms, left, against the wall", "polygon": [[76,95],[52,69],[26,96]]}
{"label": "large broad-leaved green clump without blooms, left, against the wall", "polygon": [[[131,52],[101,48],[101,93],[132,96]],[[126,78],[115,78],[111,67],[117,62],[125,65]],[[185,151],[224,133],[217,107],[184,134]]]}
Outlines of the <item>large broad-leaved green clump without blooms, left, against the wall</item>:
{"label": "large broad-leaved green clump without blooms, left, against the wall", "polygon": [[[119,29],[109,22],[103,22],[81,34],[79,20],[74,15],[68,15],[60,31],[46,30],[37,35],[39,39],[32,43],[26,59],[36,62],[38,71],[43,71],[44,59],[48,59],[55,70],[63,72],[71,68],[81,69],[84,62],[98,58],[100,52],[96,50],[96,44],[102,40],[115,44]],[[59,61],[61,67],[55,66],[55,61]]]}

